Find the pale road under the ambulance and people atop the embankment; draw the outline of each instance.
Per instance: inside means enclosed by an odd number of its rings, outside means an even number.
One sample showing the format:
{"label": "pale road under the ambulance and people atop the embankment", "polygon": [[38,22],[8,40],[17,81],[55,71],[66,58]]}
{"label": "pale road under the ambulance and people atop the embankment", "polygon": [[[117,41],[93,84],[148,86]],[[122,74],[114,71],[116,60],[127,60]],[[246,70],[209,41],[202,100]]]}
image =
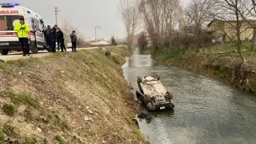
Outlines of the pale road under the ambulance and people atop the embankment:
{"label": "pale road under the ambulance and people atop the embankment", "polygon": [[[91,49],[98,49],[99,47],[88,47],[88,48],[78,48],[77,50],[91,50]],[[67,49],[68,52],[71,52],[72,49]],[[46,50],[40,50],[37,54],[30,55],[31,57],[43,57],[50,55],[51,53],[48,53]],[[3,61],[8,61],[8,60],[15,60],[15,59],[25,59],[30,56],[22,56],[21,52],[13,52],[13,53],[8,53],[7,56],[2,56],[0,55],[0,60]]]}

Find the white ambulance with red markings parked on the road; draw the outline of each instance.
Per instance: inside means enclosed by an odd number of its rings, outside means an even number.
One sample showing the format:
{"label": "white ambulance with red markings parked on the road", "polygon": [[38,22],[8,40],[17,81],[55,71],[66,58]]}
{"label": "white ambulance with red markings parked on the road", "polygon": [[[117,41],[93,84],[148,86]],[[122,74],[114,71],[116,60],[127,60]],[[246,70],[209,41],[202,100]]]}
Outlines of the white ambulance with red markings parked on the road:
{"label": "white ambulance with red markings parked on the road", "polygon": [[31,52],[37,53],[38,50],[46,47],[43,34],[46,27],[39,14],[16,3],[0,3],[0,52],[2,55],[8,55],[10,50],[21,51],[17,32],[14,31],[14,25],[20,18],[24,18],[25,23],[30,26],[28,41]]}

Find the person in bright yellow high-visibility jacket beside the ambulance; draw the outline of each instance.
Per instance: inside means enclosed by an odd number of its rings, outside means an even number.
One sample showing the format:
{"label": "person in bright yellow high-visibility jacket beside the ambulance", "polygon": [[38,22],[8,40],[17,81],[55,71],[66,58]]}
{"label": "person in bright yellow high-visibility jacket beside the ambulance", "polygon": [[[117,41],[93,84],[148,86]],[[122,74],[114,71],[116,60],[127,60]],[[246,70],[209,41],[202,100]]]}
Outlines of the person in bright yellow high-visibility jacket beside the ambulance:
{"label": "person in bright yellow high-visibility jacket beside the ambulance", "polygon": [[14,30],[17,31],[23,56],[30,56],[30,49],[28,45],[28,34],[30,33],[30,27],[28,24],[25,24],[24,18],[20,18],[20,22],[15,24]]}

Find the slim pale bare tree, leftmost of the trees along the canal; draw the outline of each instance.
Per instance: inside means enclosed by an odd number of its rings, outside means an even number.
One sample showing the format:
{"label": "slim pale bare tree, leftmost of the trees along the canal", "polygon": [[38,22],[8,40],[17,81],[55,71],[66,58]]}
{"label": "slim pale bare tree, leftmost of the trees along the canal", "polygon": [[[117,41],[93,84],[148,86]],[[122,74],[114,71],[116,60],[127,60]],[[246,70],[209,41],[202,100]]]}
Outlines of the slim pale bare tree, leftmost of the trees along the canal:
{"label": "slim pale bare tree, leftmost of the trees along the canal", "polygon": [[126,27],[127,44],[131,51],[134,34],[139,26],[138,2],[136,0],[120,0],[117,8]]}

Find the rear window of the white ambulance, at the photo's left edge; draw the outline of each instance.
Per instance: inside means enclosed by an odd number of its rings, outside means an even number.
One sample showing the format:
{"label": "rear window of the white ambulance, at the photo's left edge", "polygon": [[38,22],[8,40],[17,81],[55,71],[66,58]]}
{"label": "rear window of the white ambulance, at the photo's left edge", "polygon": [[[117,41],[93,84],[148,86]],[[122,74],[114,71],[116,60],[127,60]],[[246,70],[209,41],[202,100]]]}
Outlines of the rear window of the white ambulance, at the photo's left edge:
{"label": "rear window of the white ambulance, at the photo's left edge", "polygon": [[14,25],[24,18],[22,15],[0,15],[0,30],[14,30]]}

